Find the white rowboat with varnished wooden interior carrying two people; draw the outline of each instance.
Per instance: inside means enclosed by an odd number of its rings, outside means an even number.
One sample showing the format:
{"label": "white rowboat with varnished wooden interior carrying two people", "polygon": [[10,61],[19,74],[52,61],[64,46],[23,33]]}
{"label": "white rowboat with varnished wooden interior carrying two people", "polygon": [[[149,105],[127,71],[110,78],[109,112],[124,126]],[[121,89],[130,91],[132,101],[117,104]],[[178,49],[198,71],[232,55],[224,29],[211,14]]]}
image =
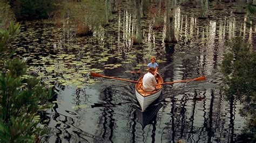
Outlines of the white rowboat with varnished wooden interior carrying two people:
{"label": "white rowboat with varnished wooden interior carrying two people", "polygon": [[[146,108],[154,102],[160,95],[163,89],[163,85],[157,85],[157,89],[155,91],[144,91],[142,89],[142,79],[143,76],[139,77],[138,82],[135,84],[135,92],[136,92],[136,98],[140,104],[140,107],[142,108],[142,112],[146,110]],[[157,84],[163,83],[163,78],[158,74],[156,78]]]}

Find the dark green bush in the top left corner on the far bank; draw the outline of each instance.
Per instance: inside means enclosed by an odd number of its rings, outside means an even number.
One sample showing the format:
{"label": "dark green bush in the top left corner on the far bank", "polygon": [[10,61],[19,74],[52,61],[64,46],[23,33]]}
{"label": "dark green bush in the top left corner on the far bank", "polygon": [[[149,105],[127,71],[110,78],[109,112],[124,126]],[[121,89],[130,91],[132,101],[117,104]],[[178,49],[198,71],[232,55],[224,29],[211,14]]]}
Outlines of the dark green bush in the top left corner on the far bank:
{"label": "dark green bush in the top left corner on the far bank", "polygon": [[11,5],[18,19],[41,19],[48,18],[56,11],[60,0],[16,0]]}

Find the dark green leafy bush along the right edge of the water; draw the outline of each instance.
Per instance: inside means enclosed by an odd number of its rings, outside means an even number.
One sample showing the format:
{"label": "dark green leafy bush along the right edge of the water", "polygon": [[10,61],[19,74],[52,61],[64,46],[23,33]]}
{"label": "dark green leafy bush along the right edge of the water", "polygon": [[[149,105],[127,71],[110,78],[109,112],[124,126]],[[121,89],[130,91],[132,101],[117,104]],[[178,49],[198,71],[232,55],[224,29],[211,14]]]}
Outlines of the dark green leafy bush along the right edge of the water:
{"label": "dark green leafy bush along the right edge of the water", "polygon": [[244,105],[240,113],[249,118],[248,132],[256,140],[256,52],[241,37],[227,41],[226,45],[231,51],[221,63],[225,75],[223,91],[228,100],[238,99]]}

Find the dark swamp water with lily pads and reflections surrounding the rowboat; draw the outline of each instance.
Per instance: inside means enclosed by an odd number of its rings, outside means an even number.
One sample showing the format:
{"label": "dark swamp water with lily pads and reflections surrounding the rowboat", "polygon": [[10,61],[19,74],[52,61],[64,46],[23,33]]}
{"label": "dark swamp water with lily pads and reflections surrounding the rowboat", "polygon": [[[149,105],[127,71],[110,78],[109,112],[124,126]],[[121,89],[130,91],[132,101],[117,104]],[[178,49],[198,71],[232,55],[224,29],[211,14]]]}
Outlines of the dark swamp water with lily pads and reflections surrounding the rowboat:
{"label": "dark swamp water with lily pads and reflections surrounding the rowboat", "polygon": [[[56,101],[42,123],[50,128],[44,142],[233,142],[245,119],[241,104],[227,102],[218,71],[226,39],[240,35],[255,45],[256,26],[247,27],[247,15],[233,15],[233,7],[213,10],[206,20],[198,9],[179,6],[178,44],[165,45],[165,29],[153,30],[154,18],[142,20],[143,44],[132,46],[134,10],[119,5],[113,21],[91,37],[77,38],[51,22],[27,23],[14,44],[17,56],[28,58],[31,73],[55,88]],[[163,95],[140,112],[134,84],[88,77],[90,71],[137,80],[151,55],[165,82],[205,75],[204,82],[165,85]],[[113,64],[113,65],[111,65]],[[108,66],[106,66],[108,65]],[[116,67],[114,67],[116,65]],[[96,82],[95,82],[96,80]],[[77,88],[78,87],[78,88]],[[197,97],[196,99],[194,99]]]}

